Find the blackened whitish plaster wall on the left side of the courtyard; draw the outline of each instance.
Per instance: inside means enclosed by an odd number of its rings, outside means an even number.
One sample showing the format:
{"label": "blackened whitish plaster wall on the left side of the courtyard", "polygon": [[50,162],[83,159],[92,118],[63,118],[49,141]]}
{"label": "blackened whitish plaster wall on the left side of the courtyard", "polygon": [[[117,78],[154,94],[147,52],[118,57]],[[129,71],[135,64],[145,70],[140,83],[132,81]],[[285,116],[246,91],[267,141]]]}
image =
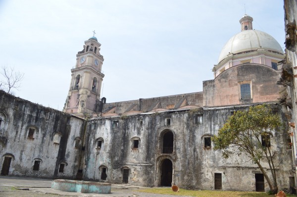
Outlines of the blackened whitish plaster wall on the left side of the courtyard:
{"label": "blackened whitish plaster wall on the left side of the courtyard", "polygon": [[[74,138],[82,136],[84,120],[44,107],[0,91],[0,112],[7,117],[1,127],[0,164],[4,156],[13,155],[9,174],[44,178],[73,178],[78,168],[78,151]],[[36,129],[34,139],[28,138],[29,127]],[[59,144],[53,143],[54,135]],[[39,171],[33,170],[34,159],[40,159]],[[58,172],[66,162],[64,172]]]}

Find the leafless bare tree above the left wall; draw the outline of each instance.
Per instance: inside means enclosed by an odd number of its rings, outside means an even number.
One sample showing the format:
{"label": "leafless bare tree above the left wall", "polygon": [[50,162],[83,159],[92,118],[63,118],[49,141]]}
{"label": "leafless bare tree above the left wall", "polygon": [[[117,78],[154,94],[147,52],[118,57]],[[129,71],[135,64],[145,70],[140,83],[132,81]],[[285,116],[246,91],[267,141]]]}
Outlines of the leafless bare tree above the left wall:
{"label": "leafless bare tree above the left wall", "polygon": [[16,89],[20,87],[20,82],[24,78],[24,73],[20,71],[14,71],[14,68],[2,66],[0,70],[0,89],[9,93],[11,89]]}

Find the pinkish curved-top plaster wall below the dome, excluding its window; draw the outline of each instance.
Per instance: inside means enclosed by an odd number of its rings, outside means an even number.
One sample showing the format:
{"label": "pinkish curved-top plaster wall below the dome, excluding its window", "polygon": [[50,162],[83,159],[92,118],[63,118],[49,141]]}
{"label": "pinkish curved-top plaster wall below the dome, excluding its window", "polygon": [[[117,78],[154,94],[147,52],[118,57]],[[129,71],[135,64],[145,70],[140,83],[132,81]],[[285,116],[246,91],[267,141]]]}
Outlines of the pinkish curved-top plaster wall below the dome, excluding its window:
{"label": "pinkish curved-top plaster wall below the dome, excluding its window", "polygon": [[[277,85],[281,71],[261,64],[241,64],[203,81],[203,106],[224,106],[275,101],[283,89]],[[251,99],[241,100],[240,83],[251,82]],[[272,83],[274,82],[274,83]]]}

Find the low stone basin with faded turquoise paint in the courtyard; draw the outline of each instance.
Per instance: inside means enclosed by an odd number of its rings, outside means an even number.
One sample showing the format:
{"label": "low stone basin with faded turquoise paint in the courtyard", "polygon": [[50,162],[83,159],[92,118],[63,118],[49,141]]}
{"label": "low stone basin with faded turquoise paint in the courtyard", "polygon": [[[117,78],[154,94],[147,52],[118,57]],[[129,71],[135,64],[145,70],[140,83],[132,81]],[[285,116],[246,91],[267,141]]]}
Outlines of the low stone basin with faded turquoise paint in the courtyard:
{"label": "low stone basin with faded turquoise paint in the courtyard", "polygon": [[63,192],[110,194],[111,184],[91,181],[56,179],[51,182],[51,188]]}

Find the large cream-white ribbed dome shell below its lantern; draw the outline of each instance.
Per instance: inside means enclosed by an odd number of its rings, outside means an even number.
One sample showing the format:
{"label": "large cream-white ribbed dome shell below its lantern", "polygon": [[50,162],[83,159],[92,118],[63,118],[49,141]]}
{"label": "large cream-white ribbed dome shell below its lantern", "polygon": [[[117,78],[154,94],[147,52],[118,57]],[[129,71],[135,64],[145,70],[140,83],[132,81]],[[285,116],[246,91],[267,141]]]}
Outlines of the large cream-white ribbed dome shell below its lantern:
{"label": "large cream-white ribbed dome shell below its lantern", "polygon": [[233,36],[225,44],[218,62],[225,59],[229,53],[236,54],[247,50],[257,50],[258,48],[284,53],[280,44],[269,34],[258,30],[245,30]]}

